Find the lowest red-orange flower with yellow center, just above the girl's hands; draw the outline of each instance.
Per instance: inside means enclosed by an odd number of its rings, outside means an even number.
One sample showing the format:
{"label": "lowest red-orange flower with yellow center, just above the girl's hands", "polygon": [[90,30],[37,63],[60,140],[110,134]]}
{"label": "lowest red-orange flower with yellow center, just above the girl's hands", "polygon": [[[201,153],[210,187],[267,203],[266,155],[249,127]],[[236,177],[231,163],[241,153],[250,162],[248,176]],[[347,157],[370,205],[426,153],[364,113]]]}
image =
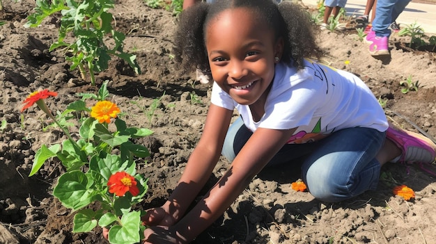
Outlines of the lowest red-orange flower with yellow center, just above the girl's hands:
{"label": "lowest red-orange flower with yellow center, just above the girl's hands", "polygon": [[107,181],[107,186],[109,186],[109,193],[115,193],[118,197],[122,197],[127,191],[134,197],[139,194],[137,181],[124,171],[112,174]]}

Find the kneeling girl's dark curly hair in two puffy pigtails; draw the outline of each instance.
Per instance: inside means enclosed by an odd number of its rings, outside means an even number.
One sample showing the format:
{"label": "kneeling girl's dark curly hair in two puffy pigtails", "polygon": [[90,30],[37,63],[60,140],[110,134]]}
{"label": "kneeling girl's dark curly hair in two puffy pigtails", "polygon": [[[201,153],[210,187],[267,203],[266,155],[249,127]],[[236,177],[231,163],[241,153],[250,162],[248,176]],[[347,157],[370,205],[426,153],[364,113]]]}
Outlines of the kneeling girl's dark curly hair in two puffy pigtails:
{"label": "kneeling girl's dark curly hair in two puffy pigtails", "polygon": [[211,4],[196,3],[180,14],[173,52],[184,70],[210,71],[205,29],[219,13],[232,8],[247,8],[274,29],[276,40],[283,38],[281,62],[301,69],[304,58],[322,55],[315,40],[315,24],[299,5],[290,1],[277,4],[272,0],[217,0]]}

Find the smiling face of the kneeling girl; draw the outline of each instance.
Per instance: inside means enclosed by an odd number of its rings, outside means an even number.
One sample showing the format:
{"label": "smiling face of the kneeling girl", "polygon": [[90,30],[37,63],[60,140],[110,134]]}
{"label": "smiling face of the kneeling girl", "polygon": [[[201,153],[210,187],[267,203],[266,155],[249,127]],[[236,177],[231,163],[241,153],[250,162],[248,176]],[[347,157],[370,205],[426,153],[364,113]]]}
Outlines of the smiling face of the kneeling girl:
{"label": "smiling face of the kneeling girl", "polygon": [[266,98],[274,78],[275,57],[281,57],[283,40],[246,8],[224,10],[206,27],[213,79],[238,104],[251,105]]}

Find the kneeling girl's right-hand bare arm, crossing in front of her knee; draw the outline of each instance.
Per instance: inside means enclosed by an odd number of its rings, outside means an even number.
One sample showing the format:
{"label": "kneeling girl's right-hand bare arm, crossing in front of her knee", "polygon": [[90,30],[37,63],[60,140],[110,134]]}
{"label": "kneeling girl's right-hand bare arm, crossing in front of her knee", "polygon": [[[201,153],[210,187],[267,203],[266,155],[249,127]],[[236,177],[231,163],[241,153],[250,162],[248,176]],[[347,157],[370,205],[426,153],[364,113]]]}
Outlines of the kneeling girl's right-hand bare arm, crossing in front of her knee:
{"label": "kneeling girl's right-hand bare arm, crossing in front of her knee", "polygon": [[[242,193],[251,179],[277,154],[294,131],[295,129],[257,129],[242,147],[226,174],[219,179],[203,200],[198,202],[194,209],[189,211],[176,225],[169,227],[169,233],[172,233],[170,235],[176,235],[181,240],[191,241],[210,226]],[[221,142],[221,140],[219,141]],[[201,158],[195,158],[195,160],[198,159]],[[203,168],[201,171],[207,172],[209,175],[211,170],[211,168],[207,168],[207,170]],[[192,173],[194,171],[192,170]],[[194,177],[194,175],[185,177],[185,174],[182,177],[184,180],[180,181],[185,182],[185,184],[189,185],[189,179],[196,179],[201,183],[205,181],[204,178]],[[198,189],[198,187],[194,188]],[[190,193],[189,200],[192,196]]]}

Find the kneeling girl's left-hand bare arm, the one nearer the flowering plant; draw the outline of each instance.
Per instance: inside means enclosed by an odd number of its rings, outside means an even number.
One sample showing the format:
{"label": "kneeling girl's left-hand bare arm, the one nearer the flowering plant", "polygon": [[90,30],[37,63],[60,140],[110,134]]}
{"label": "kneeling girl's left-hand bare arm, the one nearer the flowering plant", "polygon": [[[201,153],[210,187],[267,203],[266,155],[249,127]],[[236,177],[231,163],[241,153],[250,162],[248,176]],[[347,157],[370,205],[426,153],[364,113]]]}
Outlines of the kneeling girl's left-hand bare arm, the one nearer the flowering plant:
{"label": "kneeling girl's left-hand bare arm, the one nearer the flowering plant", "polygon": [[172,225],[184,215],[219,160],[232,115],[233,111],[210,105],[201,139],[189,156],[178,185],[162,206],[165,213],[162,209],[148,211],[144,218],[147,225]]}

